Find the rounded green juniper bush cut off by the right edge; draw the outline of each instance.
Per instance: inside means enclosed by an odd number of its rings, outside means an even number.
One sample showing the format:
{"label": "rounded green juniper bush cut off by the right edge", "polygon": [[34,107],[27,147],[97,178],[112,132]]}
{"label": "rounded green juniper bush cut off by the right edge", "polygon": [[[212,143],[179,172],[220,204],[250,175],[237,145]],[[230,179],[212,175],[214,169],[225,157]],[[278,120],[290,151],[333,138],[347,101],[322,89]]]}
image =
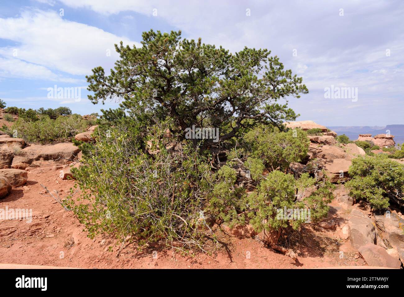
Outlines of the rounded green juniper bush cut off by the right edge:
{"label": "rounded green juniper bush cut off by the right edge", "polygon": [[389,160],[384,154],[353,159],[348,173],[351,179],[345,186],[349,194],[368,201],[375,209],[389,207],[389,194],[402,199],[404,165]]}

